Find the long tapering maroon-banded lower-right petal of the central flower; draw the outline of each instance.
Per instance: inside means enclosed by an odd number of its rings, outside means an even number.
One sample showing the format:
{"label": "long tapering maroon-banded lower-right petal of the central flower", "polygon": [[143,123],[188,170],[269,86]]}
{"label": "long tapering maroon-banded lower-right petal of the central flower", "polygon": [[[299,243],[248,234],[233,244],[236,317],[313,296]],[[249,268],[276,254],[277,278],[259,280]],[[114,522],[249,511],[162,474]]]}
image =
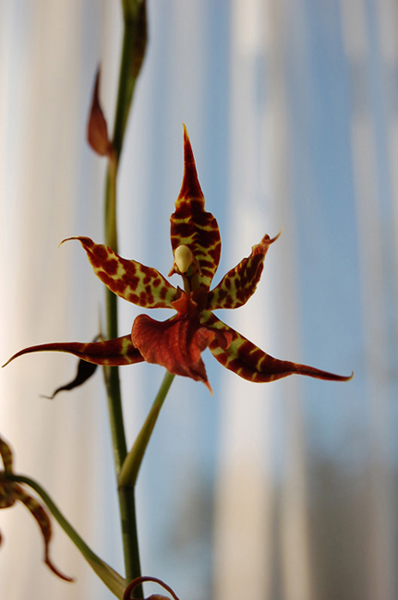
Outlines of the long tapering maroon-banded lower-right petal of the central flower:
{"label": "long tapering maroon-banded lower-right petal of the central flower", "polygon": [[232,334],[232,342],[228,348],[222,348],[215,339],[209,345],[210,352],[224,367],[248,381],[258,383],[275,381],[293,374],[329,381],[348,381],[353,376],[353,374],[348,377],[335,375],[307,365],[273,358],[211,313],[203,313],[202,322]]}

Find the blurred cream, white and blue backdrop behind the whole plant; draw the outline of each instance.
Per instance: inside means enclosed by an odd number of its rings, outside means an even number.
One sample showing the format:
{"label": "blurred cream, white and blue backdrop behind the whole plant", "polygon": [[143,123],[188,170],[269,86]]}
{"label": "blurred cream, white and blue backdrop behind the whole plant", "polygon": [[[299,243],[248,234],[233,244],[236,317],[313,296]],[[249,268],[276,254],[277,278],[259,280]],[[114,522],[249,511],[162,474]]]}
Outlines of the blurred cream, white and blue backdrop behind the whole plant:
{"label": "blurred cream, white and blue backdrop behind the whole plant", "polygon": [[[149,0],[149,47],[122,156],[120,254],[167,274],[182,126],[223,252],[215,283],[283,230],[255,296],[219,316],[264,350],[349,383],[251,384],[204,353],[172,386],[138,482],[143,573],[190,600],[393,600],[397,547],[398,5]],[[85,127],[98,64],[114,114],[121,2],[0,0],[0,362],[91,340],[104,296],[73,235],[103,241],[105,163]],[[177,281],[173,281],[177,284]],[[140,311],[120,301],[120,334]],[[164,314],[163,314],[164,312]],[[167,318],[167,311],[155,318]],[[0,373],[0,432],[89,545],[122,572],[102,377],[73,357]],[[129,443],[163,377],[122,370]],[[0,597],[109,600],[54,524],[0,512]],[[156,588],[147,586],[147,594]]]}

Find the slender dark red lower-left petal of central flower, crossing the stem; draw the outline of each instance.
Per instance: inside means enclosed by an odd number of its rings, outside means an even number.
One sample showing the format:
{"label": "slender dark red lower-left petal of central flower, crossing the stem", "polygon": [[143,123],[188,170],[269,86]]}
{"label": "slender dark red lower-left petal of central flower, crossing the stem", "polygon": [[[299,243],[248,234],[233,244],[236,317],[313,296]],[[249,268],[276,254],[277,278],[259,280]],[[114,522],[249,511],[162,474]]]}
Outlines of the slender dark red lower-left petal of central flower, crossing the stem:
{"label": "slender dark red lower-left petal of central flower, crossing the stem", "polygon": [[116,340],[104,342],[88,342],[86,344],[83,342],[55,342],[30,346],[14,354],[3,367],[15,358],[31,352],[67,352],[87,362],[106,367],[132,365],[144,360],[139,350],[133,346],[131,336],[125,335]]}

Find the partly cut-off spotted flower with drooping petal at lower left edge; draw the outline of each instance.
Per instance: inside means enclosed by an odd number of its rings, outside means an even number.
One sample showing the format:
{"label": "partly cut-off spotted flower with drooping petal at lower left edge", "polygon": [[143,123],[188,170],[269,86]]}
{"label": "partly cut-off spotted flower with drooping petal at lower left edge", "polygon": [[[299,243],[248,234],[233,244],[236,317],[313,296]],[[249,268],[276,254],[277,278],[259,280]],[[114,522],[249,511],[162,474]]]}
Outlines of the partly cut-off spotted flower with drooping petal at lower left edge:
{"label": "partly cut-off spotted flower with drooping petal at lower left edge", "polygon": [[[28,494],[19,483],[7,478],[9,475],[14,475],[13,456],[10,446],[2,438],[0,438],[0,456],[4,466],[4,469],[0,470],[0,509],[9,508],[10,506],[13,506],[17,500],[20,500],[36,519],[37,524],[40,527],[44,540],[44,562],[51,571],[61,579],[73,581],[73,579],[58,571],[50,560],[49,546],[52,530],[50,517],[48,516],[47,511],[36,498]],[[1,541],[2,538],[0,534],[0,544]]]}

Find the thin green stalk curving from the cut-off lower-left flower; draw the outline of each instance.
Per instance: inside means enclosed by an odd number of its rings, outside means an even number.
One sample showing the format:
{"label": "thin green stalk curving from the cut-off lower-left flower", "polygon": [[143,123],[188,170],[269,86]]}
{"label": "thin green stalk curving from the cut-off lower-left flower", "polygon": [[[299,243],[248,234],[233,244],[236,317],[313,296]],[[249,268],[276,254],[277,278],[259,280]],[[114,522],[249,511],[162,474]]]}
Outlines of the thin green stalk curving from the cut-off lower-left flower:
{"label": "thin green stalk curving from the cut-off lower-left flower", "polygon": [[61,511],[58,509],[56,504],[47,494],[47,492],[33,479],[26,477],[25,475],[13,475],[7,473],[7,479],[10,481],[16,481],[18,483],[25,483],[31,487],[40,496],[48,510],[53,515],[54,519],[58,521],[59,525],[69,536],[75,546],[80,550],[84,558],[87,560],[91,568],[95,571],[98,577],[104,582],[104,584],[110,589],[110,591],[122,600],[124,590],[128,581],[126,581],[119,573],[114,571],[106,562],[101,560],[86,542],[80,537],[77,531],[72,527],[69,521],[63,516]]}

